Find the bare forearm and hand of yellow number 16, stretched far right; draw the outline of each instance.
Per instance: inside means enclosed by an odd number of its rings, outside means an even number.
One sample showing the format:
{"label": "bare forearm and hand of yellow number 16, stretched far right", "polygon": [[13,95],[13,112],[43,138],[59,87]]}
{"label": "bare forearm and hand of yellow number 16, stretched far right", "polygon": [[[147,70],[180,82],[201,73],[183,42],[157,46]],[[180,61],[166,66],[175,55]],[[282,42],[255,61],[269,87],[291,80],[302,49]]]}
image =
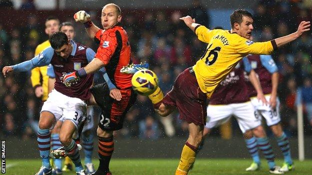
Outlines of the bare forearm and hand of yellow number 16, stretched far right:
{"label": "bare forearm and hand of yellow number 16, stretched far right", "polygon": [[274,39],[277,47],[297,39],[302,35],[303,32],[310,30],[310,25],[310,21],[301,21],[296,32]]}

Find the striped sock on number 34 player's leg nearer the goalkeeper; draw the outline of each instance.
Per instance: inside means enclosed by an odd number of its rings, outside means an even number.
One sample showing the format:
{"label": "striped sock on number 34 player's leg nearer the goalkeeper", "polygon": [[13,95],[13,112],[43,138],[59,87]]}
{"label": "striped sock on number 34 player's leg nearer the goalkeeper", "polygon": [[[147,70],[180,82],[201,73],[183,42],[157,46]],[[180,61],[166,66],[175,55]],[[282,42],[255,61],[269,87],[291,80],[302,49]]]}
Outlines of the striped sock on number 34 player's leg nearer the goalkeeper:
{"label": "striped sock on number 34 player's leg nearer the goalkeeper", "polygon": [[68,157],[72,160],[73,164],[75,165],[76,172],[80,172],[81,170],[83,170],[77,144],[73,140],[71,140],[68,146],[64,146],[64,149]]}

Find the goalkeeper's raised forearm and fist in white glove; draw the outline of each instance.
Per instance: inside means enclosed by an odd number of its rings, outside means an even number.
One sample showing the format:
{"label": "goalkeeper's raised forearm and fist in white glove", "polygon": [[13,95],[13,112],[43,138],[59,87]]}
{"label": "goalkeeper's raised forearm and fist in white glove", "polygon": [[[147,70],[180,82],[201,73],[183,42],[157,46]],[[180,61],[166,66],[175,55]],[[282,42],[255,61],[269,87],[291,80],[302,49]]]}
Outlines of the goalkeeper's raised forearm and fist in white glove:
{"label": "goalkeeper's raised forearm and fist in white glove", "polygon": [[100,29],[91,21],[91,16],[84,10],[80,10],[74,13],[73,18],[76,22],[81,22],[84,24],[86,33],[90,38],[94,38],[95,33]]}

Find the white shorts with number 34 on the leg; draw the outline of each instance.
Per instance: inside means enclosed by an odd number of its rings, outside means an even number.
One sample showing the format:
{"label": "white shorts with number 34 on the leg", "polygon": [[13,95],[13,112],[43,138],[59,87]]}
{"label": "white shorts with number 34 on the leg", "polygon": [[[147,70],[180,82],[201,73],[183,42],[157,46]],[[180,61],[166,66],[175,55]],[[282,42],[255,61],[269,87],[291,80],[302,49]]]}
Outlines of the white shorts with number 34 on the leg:
{"label": "white shorts with number 34 on the leg", "polygon": [[[86,104],[78,98],[68,97],[55,89],[48,94],[47,100],[43,103],[41,112],[48,111],[55,117],[55,122],[60,120],[70,120],[78,129],[78,126],[84,121],[86,113]],[[54,125],[50,128],[53,129]]]}

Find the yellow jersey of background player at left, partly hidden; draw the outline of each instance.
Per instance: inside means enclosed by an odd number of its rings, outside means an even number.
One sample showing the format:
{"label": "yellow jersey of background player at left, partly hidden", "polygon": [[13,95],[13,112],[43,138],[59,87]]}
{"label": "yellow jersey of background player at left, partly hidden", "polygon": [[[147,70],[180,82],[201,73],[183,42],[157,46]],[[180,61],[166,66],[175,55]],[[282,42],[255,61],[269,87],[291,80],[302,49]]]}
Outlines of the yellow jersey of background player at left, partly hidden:
{"label": "yellow jersey of background player at left, partly hidden", "polygon": [[[34,55],[38,55],[40,52],[42,52],[44,49],[46,49],[47,47],[51,46],[49,40],[46,40],[44,42],[42,42],[41,44],[39,44],[35,51],[34,51]],[[42,67],[35,67],[31,70],[31,84],[32,87],[35,86],[40,86],[40,75],[42,76],[42,88],[43,88],[43,95],[41,97],[42,101],[46,101],[47,99],[47,82],[48,82],[48,76],[46,75],[47,72],[47,66],[42,66]]]}

